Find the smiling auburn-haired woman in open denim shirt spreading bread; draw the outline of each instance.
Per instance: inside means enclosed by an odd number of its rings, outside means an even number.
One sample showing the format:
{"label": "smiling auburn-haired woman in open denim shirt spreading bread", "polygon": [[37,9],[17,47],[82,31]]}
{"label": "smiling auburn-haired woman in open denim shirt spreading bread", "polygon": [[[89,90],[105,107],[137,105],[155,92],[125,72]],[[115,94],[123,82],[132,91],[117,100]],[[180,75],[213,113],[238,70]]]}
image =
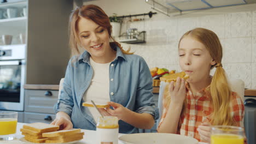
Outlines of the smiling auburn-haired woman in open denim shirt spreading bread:
{"label": "smiling auburn-haired woman in open denim shirt spreading bread", "polygon": [[[56,119],[62,129],[95,130],[98,113],[82,103],[94,100],[113,109],[101,109],[105,116],[116,116],[119,133],[150,129],[158,118],[153,104],[152,79],[144,59],[122,49],[111,37],[108,16],[96,5],[84,5],[71,14],[69,44],[73,53],[85,51],[68,63]],[[113,42],[110,42],[110,41]]]}

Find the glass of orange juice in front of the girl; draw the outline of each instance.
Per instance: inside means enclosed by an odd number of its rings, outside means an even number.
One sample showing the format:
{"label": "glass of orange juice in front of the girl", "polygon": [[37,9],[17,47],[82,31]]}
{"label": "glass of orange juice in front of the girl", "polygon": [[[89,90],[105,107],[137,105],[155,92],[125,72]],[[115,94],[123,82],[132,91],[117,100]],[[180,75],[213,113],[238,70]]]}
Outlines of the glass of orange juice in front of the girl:
{"label": "glass of orange juice in front of the girl", "polygon": [[211,144],[243,144],[244,130],[234,126],[216,126],[211,130]]}

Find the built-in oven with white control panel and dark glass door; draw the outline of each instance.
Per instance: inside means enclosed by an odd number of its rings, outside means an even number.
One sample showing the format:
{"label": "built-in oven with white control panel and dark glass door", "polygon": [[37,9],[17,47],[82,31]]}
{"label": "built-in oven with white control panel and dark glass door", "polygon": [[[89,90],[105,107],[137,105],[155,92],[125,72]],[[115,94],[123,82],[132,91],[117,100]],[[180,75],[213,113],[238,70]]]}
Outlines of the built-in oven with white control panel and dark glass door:
{"label": "built-in oven with white control panel and dark glass door", "polygon": [[24,110],[26,45],[0,46],[0,110]]}

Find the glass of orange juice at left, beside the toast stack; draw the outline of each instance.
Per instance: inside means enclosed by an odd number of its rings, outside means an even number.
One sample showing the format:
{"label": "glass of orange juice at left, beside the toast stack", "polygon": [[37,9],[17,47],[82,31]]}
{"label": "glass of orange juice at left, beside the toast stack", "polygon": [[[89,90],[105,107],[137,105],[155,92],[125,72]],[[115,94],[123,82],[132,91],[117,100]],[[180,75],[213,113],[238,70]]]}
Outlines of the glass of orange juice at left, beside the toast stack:
{"label": "glass of orange juice at left, beside the toast stack", "polygon": [[0,111],[0,140],[15,139],[18,112]]}

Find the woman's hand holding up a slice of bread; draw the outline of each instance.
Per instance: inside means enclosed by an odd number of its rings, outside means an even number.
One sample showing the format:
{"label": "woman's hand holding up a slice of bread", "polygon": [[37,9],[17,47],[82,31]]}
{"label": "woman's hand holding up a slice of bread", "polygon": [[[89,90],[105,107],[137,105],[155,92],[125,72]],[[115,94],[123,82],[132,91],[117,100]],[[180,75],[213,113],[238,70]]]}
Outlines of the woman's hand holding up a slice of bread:
{"label": "woman's hand holding up a slice of bread", "polygon": [[114,110],[106,108],[106,109],[99,109],[103,116],[115,116],[118,117],[118,119],[123,119],[125,114],[127,113],[128,109],[124,107],[123,105],[120,105],[118,103],[114,103],[112,101],[108,102],[110,106],[114,108]]}

